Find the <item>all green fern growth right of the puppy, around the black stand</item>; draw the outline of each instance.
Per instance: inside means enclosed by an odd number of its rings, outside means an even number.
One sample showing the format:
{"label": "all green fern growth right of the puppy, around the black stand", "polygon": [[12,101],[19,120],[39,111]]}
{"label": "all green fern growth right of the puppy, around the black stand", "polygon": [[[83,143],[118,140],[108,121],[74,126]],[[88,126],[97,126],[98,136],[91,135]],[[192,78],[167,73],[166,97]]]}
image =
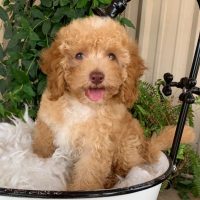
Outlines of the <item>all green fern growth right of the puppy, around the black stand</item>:
{"label": "all green fern growth right of the puppy, around the black stand", "polygon": [[[139,99],[130,110],[144,127],[146,137],[151,137],[153,133],[159,132],[167,125],[177,124],[181,104],[180,102],[174,104],[173,97],[163,96],[160,92],[161,85],[160,80],[155,85],[140,82]],[[200,97],[196,98],[196,104],[200,105]],[[193,110],[190,108],[187,122],[191,126],[193,126],[193,118]],[[200,197],[200,156],[190,145],[180,145],[177,160],[178,170],[169,181],[179,191],[182,199],[189,200],[190,193]]]}

